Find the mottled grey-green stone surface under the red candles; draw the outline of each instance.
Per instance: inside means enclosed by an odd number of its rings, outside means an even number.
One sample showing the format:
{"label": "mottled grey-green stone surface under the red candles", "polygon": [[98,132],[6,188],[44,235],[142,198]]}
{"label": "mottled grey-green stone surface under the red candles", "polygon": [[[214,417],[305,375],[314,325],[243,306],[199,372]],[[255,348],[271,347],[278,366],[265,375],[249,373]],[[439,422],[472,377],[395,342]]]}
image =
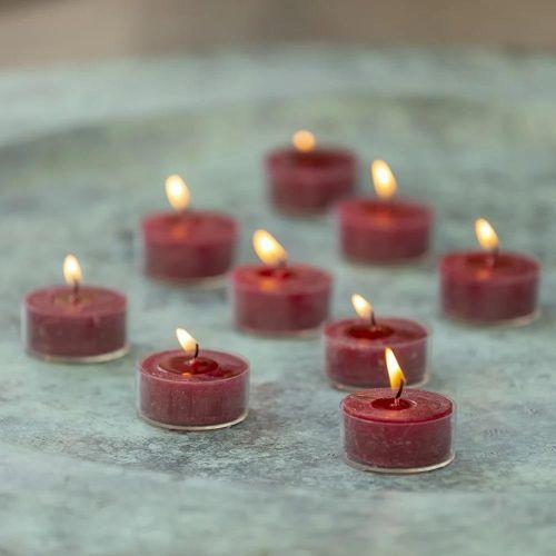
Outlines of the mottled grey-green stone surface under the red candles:
{"label": "mottled grey-green stone surface under the red candles", "polygon": [[[0,73],[0,554],[554,554],[556,546],[556,58],[409,49],[282,49]],[[345,265],[326,219],[265,203],[260,159],[306,127],[383,157],[407,195],[434,198],[435,252],[411,267]],[[410,477],[340,458],[338,404],[315,340],[230,327],[225,291],[183,291],[137,270],[139,216],[182,173],[195,205],[256,227],[349,295],[434,329],[428,388],[458,404],[457,458]],[[361,189],[366,188],[361,169]],[[437,315],[435,257],[474,245],[542,258],[543,318],[466,328]],[[71,367],[27,357],[19,301],[86,279],[128,292],[132,353]],[[133,363],[185,326],[252,364],[251,414],[172,434],[135,414]]]}

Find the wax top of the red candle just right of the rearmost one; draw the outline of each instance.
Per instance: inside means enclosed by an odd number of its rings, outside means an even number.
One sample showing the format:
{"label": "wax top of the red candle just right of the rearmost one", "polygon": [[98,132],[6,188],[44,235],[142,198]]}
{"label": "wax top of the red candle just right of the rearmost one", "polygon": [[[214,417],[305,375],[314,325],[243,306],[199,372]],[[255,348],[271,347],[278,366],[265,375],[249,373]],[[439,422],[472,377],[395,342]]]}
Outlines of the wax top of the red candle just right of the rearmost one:
{"label": "wax top of the red candle just right of the rearmost one", "polygon": [[433,218],[433,209],[428,205],[395,196],[390,199],[378,197],[355,197],[338,203],[337,210],[354,220],[376,221],[384,226],[396,222],[396,226],[413,226]]}

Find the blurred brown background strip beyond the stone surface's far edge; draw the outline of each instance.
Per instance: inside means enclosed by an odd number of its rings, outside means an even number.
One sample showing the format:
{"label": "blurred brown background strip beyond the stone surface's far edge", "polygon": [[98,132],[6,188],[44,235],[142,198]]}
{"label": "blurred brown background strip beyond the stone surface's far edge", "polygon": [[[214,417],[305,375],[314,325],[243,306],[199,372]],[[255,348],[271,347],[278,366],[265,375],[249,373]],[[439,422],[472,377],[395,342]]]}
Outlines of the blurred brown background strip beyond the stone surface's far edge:
{"label": "blurred brown background strip beyond the stone surface's far edge", "polygon": [[556,46],[554,0],[0,0],[0,66],[284,41]]}

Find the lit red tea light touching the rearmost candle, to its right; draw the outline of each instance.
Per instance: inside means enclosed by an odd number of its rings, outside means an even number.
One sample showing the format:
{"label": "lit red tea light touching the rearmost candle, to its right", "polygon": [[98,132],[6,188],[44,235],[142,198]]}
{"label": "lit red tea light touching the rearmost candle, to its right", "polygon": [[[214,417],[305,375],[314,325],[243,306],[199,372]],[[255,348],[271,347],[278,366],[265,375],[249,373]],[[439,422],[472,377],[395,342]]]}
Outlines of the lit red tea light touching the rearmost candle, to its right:
{"label": "lit red tea light touching the rearmost candle, to its right", "polygon": [[358,264],[389,264],[420,257],[428,250],[433,209],[394,196],[397,183],[386,162],[371,165],[378,198],[355,198],[336,207],[341,255]]}

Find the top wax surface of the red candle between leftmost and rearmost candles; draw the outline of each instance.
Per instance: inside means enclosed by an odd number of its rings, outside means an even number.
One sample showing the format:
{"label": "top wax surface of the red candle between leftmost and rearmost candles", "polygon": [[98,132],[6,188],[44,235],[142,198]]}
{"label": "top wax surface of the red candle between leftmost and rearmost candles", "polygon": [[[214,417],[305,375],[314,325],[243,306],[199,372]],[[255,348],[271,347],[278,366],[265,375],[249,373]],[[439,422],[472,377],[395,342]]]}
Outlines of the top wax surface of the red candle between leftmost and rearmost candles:
{"label": "top wax surface of the red candle between leftmost and rearmost candles", "polygon": [[211,210],[152,212],[143,218],[141,226],[148,241],[165,244],[229,241],[239,229],[234,218]]}

